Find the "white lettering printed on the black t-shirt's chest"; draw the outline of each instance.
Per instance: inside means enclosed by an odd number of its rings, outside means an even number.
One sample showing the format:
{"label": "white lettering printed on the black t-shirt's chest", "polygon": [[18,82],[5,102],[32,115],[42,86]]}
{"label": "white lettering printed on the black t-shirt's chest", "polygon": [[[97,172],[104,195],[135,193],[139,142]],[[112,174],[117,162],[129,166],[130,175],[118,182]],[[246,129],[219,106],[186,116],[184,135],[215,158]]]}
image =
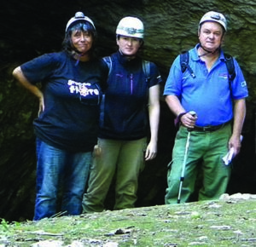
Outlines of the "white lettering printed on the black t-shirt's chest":
{"label": "white lettering printed on the black t-shirt's chest", "polygon": [[91,83],[77,83],[73,80],[68,80],[67,85],[71,94],[80,94],[82,96],[100,94],[96,86],[92,86]]}

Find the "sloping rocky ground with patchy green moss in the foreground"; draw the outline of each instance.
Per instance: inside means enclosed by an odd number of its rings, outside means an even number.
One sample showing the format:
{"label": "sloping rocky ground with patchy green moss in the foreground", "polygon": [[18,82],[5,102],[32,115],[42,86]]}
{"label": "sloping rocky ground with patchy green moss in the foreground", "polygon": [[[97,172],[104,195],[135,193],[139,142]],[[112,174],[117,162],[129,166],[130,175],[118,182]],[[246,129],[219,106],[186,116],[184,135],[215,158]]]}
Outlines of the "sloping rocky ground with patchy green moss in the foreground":
{"label": "sloping rocky ground with patchy green moss in the foreground", "polygon": [[0,224],[0,246],[256,246],[256,195]]}

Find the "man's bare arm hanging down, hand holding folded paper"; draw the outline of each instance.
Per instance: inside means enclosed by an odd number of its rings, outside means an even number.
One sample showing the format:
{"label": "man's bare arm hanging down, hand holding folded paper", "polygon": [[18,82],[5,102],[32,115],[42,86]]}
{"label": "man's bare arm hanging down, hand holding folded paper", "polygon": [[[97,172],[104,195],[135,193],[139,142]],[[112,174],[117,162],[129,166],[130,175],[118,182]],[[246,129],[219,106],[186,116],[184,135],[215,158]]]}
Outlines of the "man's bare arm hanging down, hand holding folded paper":
{"label": "man's bare arm hanging down, hand holding folded paper", "polygon": [[234,124],[233,132],[229,141],[229,148],[234,147],[235,155],[240,152],[241,148],[241,129],[246,116],[246,101],[245,99],[237,100],[234,104]]}

